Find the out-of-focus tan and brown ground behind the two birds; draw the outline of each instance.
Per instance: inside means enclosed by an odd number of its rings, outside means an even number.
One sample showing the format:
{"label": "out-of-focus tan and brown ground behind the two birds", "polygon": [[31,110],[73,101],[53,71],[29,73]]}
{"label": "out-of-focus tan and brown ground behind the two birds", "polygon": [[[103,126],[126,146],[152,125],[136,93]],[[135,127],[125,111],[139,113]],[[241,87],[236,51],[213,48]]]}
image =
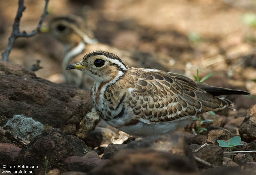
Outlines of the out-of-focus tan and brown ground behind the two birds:
{"label": "out-of-focus tan and brown ground behind the two birds", "polygon": [[[44,4],[44,0],[25,0],[21,31],[36,28]],[[18,0],[0,3],[1,53],[17,7]],[[44,24],[60,15],[81,16],[102,43],[168,55],[172,72],[192,79],[196,69],[200,77],[214,72],[206,83],[256,95],[255,10],[256,0],[50,0]],[[30,68],[41,60],[43,69],[35,72],[38,77],[65,83],[62,49],[50,34],[37,33],[32,38],[18,38],[9,61]],[[248,107],[255,102],[252,98]]]}

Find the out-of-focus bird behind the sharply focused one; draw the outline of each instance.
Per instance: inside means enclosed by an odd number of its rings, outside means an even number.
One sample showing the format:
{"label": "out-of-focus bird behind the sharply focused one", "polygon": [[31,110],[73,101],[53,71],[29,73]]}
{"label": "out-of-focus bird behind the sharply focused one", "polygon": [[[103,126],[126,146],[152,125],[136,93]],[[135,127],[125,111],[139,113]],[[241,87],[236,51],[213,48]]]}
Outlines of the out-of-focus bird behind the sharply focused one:
{"label": "out-of-focus bird behind the sharply focused one", "polygon": [[[63,70],[69,64],[80,61],[83,55],[93,50],[108,50],[120,55],[124,63],[130,67],[169,71],[168,67],[172,64],[172,58],[165,55],[119,49],[98,42],[92,30],[86,25],[85,19],[79,16],[69,15],[52,18],[48,26],[44,26],[41,31],[51,33],[63,45]],[[90,90],[93,80],[83,72],[71,70],[63,71],[63,74],[68,84]]]}

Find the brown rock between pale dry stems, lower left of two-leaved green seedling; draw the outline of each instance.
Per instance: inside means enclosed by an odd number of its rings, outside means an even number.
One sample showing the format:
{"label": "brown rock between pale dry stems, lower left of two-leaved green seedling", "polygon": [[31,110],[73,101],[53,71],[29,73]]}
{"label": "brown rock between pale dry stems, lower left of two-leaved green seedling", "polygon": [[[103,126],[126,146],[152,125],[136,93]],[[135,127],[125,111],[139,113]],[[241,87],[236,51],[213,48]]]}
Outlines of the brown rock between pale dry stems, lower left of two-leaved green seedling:
{"label": "brown rock between pale dry stems, lower left of two-leaved green seedling", "polygon": [[[223,150],[217,145],[209,144],[197,153],[194,153],[194,156],[211,163],[213,166],[222,166]],[[198,167],[203,168],[204,166],[198,164]]]}

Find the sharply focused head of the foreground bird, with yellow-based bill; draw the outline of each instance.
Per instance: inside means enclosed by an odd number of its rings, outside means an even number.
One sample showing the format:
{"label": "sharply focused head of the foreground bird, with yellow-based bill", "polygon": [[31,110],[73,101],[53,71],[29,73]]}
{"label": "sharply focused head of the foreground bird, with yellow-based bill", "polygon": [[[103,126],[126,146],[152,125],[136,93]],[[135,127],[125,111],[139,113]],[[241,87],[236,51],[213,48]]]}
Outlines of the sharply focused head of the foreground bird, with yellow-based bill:
{"label": "sharply focused head of the foreground bird, with yellow-based bill", "polygon": [[107,82],[122,76],[128,70],[115,54],[93,51],[84,55],[80,62],[70,64],[66,69],[78,69],[91,76],[95,82]]}

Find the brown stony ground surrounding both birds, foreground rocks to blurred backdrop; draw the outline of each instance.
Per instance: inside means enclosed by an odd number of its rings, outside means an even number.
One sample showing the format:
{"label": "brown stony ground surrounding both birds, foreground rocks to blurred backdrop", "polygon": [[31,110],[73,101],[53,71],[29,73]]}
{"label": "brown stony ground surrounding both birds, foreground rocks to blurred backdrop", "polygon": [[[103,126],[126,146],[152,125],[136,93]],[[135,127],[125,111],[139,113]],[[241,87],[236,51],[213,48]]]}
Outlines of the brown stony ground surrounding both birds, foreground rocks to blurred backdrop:
{"label": "brown stony ground surrounding both birds, foreground rocks to blurred backdrop", "polygon": [[[44,1],[25,5],[20,28],[31,31]],[[0,4],[1,52],[16,9],[16,0]],[[168,55],[170,71],[191,78],[196,69],[200,77],[214,72],[206,83],[256,95],[253,10],[250,0],[50,0],[46,21],[84,16],[100,42]],[[255,96],[229,96],[236,111],[205,113],[202,120],[212,121],[198,135],[195,121],[170,135],[134,138],[99,122],[89,93],[65,84],[61,51],[60,43],[39,33],[17,39],[10,62],[0,62],[0,169],[37,165],[34,174],[45,174],[48,160],[48,174],[63,175],[256,173],[256,153],[228,153],[217,142],[240,136],[243,145],[233,151],[256,150]],[[44,68],[31,72],[37,59]]]}

